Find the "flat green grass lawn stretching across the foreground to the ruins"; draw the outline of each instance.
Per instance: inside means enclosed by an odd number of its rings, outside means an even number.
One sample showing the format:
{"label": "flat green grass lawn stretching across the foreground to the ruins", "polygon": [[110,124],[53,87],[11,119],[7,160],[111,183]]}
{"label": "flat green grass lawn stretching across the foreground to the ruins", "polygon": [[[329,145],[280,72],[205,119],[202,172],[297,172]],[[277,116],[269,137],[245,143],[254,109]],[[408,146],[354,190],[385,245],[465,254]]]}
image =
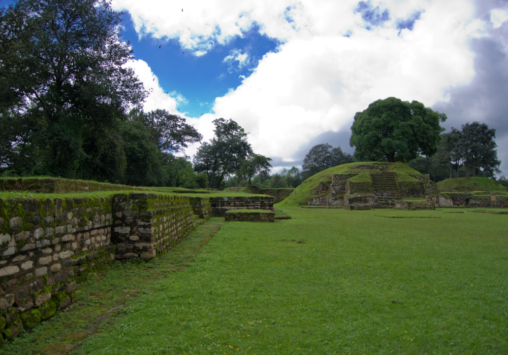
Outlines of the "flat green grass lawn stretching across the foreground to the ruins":
{"label": "flat green grass lawn stretching across the foreground to the ruins", "polygon": [[70,311],[2,353],[508,353],[508,216],[278,207],[292,219],[210,239],[214,218],[82,283]]}

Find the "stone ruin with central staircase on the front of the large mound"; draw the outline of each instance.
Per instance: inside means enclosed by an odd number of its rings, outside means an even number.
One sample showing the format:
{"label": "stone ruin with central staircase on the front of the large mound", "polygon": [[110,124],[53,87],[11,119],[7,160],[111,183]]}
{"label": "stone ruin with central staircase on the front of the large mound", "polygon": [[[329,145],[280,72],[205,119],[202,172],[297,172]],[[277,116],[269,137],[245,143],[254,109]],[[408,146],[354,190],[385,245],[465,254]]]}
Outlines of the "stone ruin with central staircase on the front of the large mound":
{"label": "stone ruin with central staircase on the front of the large mound", "polygon": [[[434,209],[437,187],[428,174],[401,174],[390,171],[389,163],[359,164],[348,174],[333,174],[320,182],[308,205],[360,206],[400,209]],[[357,170],[358,172],[351,172]],[[361,175],[360,175],[361,174]],[[360,179],[358,179],[360,177]],[[408,201],[404,198],[425,198]],[[348,208],[353,209],[353,208]]]}

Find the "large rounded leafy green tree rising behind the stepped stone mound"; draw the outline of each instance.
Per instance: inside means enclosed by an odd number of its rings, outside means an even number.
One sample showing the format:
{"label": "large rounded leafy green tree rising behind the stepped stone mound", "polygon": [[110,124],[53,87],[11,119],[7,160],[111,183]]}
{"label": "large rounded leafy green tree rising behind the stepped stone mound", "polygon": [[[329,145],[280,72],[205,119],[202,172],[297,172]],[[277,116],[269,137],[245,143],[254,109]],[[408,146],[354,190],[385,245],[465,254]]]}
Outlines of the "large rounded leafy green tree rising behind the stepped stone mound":
{"label": "large rounded leafy green tree rising behind the stepped stone mound", "polygon": [[419,154],[432,156],[444,130],[439,121],[446,119],[418,101],[377,100],[356,113],[350,144],[356,147],[358,160],[393,162],[415,159]]}

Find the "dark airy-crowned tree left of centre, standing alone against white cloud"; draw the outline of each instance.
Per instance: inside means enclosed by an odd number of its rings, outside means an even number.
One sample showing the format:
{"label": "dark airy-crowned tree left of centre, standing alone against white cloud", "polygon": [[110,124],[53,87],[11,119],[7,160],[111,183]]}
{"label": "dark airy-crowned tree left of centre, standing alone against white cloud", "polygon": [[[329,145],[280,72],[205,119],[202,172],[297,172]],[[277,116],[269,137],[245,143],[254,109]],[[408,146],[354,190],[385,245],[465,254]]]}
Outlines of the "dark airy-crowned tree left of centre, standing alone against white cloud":
{"label": "dark airy-crowned tree left of centre, standing alone against white cloud", "polygon": [[213,121],[214,137],[203,143],[194,156],[194,168],[205,172],[211,187],[219,188],[225,176],[236,174],[247,156],[253,154],[247,133],[233,120]]}

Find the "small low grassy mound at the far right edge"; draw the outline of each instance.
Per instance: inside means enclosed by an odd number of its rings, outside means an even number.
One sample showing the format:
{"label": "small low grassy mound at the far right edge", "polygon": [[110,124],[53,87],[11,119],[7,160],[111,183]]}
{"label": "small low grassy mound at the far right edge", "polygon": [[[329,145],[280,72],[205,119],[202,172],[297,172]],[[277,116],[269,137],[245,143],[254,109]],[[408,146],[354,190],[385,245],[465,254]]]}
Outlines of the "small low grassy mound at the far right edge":
{"label": "small low grassy mound at the far right edge", "polygon": [[485,194],[495,192],[498,194],[508,194],[506,188],[499,185],[488,177],[455,177],[437,183],[439,191],[443,192],[472,192],[477,194]]}

